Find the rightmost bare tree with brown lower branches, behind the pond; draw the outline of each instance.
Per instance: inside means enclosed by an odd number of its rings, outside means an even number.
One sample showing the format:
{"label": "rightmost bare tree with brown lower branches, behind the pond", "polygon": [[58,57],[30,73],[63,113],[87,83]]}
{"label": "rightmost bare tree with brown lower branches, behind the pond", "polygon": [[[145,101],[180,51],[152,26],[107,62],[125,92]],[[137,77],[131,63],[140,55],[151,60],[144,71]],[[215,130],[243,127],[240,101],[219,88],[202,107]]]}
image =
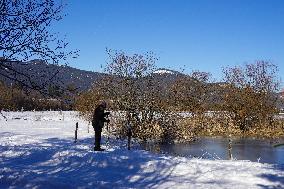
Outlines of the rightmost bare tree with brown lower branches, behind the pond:
{"label": "rightmost bare tree with brown lower branches, behind the pond", "polygon": [[253,125],[270,125],[278,112],[279,79],[277,67],[267,61],[257,61],[244,67],[223,70],[227,83],[224,93],[225,110],[241,130]]}

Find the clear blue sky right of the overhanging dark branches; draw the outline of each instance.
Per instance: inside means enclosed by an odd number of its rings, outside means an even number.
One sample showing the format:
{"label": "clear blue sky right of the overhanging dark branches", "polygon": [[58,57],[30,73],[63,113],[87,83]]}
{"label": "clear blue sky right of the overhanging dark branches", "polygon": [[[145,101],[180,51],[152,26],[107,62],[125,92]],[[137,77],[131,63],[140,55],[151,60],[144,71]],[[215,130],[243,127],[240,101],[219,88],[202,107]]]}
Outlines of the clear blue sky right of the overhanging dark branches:
{"label": "clear blue sky right of the overhanging dark branches", "polygon": [[284,76],[283,0],[69,0],[55,29],[80,50],[70,66],[103,71],[105,49],[153,51],[158,67],[207,71],[270,60]]}

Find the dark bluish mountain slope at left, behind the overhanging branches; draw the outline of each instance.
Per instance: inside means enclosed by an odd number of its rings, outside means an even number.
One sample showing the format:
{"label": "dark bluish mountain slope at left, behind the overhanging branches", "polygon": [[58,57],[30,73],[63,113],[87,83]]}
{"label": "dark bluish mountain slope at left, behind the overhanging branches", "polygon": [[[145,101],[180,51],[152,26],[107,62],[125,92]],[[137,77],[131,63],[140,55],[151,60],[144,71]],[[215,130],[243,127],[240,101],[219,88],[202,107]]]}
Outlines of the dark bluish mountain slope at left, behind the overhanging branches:
{"label": "dark bluish mountain slope at left, behind the overhanging branches", "polygon": [[48,64],[42,60],[32,60],[29,62],[7,61],[1,63],[7,66],[5,70],[0,69],[0,81],[6,84],[15,83],[8,77],[16,78],[20,82],[28,85],[52,84],[59,86],[72,86],[78,91],[84,91],[92,86],[92,83],[105,74],[99,72],[85,71],[72,68],[67,65]]}

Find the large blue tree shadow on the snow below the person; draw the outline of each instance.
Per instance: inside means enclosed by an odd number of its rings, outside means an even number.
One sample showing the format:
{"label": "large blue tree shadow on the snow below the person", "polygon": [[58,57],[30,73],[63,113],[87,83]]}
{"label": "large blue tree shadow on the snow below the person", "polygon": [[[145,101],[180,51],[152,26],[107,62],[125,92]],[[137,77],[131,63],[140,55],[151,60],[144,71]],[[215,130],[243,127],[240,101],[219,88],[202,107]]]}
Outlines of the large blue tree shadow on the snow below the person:
{"label": "large blue tree shadow on the snow below the person", "polygon": [[169,181],[176,166],[163,159],[143,171],[153,160],[148,153],[118,146],[93,152],[92,143],[92,138],[76,144],[72,139],[49,138],[35,144],[1,146],[0,152],[10,151],[16,155],[0,159],[0,187],[149,188]]}

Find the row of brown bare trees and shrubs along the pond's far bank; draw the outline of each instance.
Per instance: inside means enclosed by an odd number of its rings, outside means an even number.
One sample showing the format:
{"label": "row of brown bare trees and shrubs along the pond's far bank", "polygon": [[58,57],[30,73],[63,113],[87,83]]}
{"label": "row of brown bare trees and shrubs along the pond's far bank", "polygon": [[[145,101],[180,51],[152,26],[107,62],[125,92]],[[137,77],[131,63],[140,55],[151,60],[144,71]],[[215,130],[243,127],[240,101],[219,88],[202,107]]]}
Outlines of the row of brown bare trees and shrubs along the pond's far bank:
{"label": "row of brown bare trees and shrubs along the pond's far bank", "polygon": [[126,136],[129,126],[135,138],[166,142],[201,134],[283,135],[283,123],[275,117],[277,67],[270,62],[225,68],[222,83],[210,83],[209,73],[195,71],[165,85],[163,76],[153,74],[157,59],[152,53],[108,50],[108,55],[108,75],[82,93],[75,106],[88,119],[106,100],[115,112],[111,128],[116,136]]}

